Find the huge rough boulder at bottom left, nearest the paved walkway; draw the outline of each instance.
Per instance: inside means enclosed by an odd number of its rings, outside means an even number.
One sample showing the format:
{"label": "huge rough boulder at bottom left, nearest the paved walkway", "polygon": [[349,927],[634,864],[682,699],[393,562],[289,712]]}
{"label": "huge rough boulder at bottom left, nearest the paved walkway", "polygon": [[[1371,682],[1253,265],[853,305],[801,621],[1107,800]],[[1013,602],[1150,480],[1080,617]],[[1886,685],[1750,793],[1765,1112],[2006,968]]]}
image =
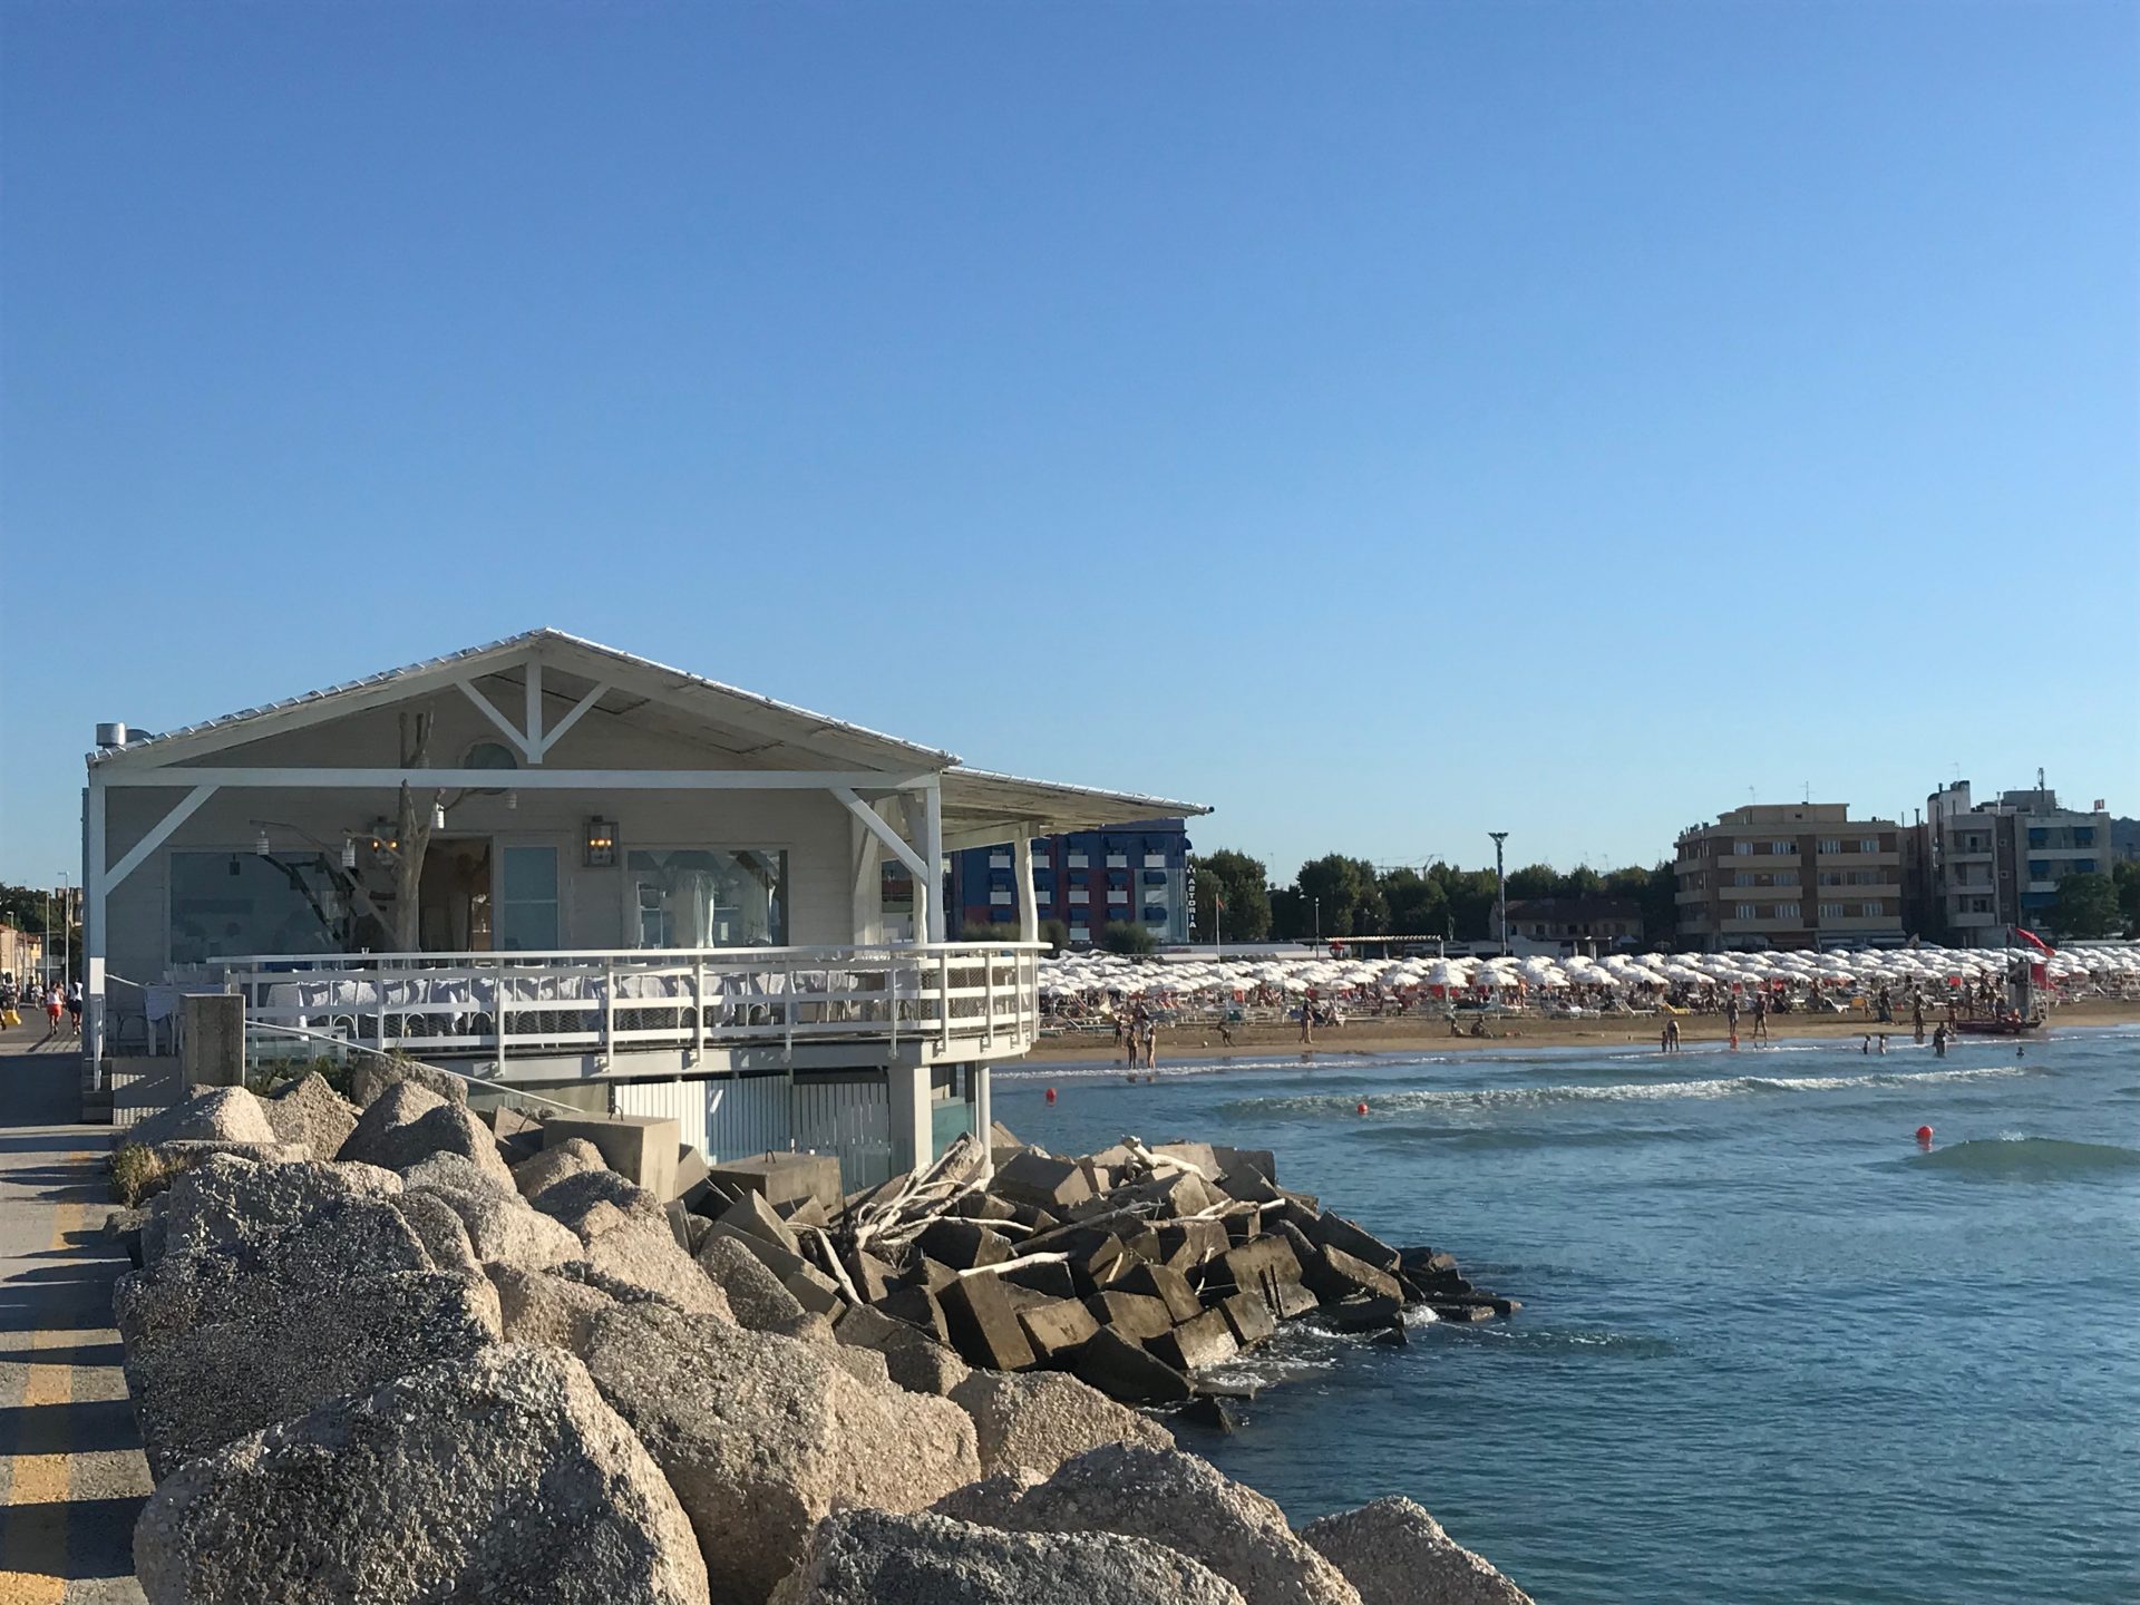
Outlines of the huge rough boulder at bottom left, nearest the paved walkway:
{"label": "huge rough boulder at bottom left, nearest the paved walkway", "polygon": [[499,1346],[253,1434],[141,1511],[150,1605],[706,1605],[691,1528],[586,1370]]}

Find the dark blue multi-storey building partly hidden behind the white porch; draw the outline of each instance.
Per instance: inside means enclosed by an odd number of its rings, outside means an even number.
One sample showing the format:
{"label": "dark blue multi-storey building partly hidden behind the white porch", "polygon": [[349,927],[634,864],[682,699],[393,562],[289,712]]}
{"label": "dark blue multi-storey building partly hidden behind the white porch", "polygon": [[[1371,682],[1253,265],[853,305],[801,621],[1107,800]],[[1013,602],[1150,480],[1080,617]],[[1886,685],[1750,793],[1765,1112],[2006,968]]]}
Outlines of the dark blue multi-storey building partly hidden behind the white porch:
{"label": "dark blue multi-storey building partly hidden behind the white porch", "polygon": [[[1109,924],[1143,924],[1160,942],[1188,942],[1190,847],[1188,820],[1034,837],[1040,922],[1061,920],[1076,948],[1098,942]],[[1017,935],[1019,873],[1010,847],[969,847],[948,858],[950,924],[1008,924],[1006,935]]]}

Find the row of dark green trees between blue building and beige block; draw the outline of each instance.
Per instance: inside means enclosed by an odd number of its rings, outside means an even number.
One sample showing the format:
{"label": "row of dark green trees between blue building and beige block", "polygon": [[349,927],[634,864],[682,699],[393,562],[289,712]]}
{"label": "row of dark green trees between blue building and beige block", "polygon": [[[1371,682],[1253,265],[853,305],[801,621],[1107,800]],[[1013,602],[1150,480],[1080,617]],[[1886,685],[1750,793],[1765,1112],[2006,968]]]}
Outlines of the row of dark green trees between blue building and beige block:
{"label": "row of dark green trees between blue building and beige block", "polygon": [[[1569,871],[1524,865],[1509,871],[1509,901],[1616,897],[1635,903],[1646,935],[1669,937],[1678,920],[1669,862],[1654,869]],[[1487,942],[1498,884],[1492,869],[1432,862],[1376,869],[1365,858],[1325,854],[1301,865],[1290,886],[1271,886],[1260,858],[1222,847],[1196,858],[1196,942],[1299,942],[1314,935],[1438,935]]]}

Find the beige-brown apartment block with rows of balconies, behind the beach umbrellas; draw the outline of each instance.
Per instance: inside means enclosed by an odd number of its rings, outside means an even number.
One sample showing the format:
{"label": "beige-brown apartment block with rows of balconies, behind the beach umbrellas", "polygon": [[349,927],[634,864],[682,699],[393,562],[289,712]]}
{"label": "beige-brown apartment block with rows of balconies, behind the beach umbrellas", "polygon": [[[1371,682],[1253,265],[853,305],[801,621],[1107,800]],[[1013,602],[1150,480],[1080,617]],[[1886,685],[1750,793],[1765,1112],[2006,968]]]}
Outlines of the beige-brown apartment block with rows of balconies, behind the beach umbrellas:
{"label": "beige-brown apartment block with rows of balconies, behind the beach umbrellas", "polygon": [[1680,832],[1680,948],[1902,942],[1902,826],[1847,802],[1755,802]]}

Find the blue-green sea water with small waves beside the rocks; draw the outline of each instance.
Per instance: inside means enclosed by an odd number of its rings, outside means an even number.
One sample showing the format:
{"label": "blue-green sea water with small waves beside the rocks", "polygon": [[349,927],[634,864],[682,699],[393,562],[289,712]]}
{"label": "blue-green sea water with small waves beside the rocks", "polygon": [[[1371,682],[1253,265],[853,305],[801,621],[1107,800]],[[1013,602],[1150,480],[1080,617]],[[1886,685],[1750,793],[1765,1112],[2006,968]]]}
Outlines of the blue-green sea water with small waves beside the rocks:
{"label": "blue-green sea water with small waves beside the rocks", "polygon": [[2140,1031],[1890,1049],[1027,1066],[995,1115],[1269,1147],[1524,1301],[1228,1367],[1239,1432],[1179,1436],[1295,1524],[1408,1494],[1560,1605],[2131,1605]]}

